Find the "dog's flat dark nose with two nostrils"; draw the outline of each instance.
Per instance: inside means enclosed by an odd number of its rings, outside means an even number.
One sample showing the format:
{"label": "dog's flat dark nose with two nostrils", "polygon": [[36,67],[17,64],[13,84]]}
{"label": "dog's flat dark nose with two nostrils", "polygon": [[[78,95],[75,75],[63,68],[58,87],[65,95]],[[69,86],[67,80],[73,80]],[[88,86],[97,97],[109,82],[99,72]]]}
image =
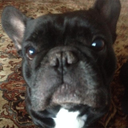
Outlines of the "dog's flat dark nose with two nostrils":
{"label": "dog's flat dark nose with two nostrils", "polygon": [[56,68],[68,68],[78,62],[78,57],[72,51],[53,53],[50,56],[50,66]]}

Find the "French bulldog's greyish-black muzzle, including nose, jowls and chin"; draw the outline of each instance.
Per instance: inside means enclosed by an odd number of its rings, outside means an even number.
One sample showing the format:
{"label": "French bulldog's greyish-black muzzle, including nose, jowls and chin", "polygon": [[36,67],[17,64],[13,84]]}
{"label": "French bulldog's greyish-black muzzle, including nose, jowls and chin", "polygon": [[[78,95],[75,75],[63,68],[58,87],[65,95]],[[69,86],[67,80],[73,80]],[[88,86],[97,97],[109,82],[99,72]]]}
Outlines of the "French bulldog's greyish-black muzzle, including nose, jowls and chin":
{"label": "French bulldog's greyish-black muzzle, including nose, jowls and chin", "polygon": [[[86,58],[86,59],[85,59]],[[34,110],[61,105],[88,105],[100,108],[108,105],[108,90],[104,87],[96,64],[79,50],[56,47],[42,60],[33,87],[28,89]]]}

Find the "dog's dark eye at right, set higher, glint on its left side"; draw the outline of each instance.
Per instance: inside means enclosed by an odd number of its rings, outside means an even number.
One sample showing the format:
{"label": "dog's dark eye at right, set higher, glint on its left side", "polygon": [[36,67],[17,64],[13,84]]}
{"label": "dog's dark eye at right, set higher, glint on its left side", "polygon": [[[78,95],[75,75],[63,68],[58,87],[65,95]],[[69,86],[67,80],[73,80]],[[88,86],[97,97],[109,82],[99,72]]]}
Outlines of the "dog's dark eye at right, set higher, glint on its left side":
{"label": "dog's dark eye at right, set higher, glint on its left side", "polygon": [[100,51],[105,47],[105,42],[102,39],[96,39],[92,42],[91,47],[96,51]]}

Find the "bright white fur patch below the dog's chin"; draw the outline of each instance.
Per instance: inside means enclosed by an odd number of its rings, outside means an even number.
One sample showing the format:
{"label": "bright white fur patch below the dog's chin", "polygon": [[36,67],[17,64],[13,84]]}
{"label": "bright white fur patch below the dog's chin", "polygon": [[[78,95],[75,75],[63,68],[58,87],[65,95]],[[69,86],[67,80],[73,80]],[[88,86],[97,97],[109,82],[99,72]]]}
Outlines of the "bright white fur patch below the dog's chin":
{"label": "bright white fur patch below the dog's chin", "polygon": [[78,117],[79,112],[69,112],[68,110],[61,108],[57,113],[55,121],[55,128],[82,128],[87,119],[87,115]]}

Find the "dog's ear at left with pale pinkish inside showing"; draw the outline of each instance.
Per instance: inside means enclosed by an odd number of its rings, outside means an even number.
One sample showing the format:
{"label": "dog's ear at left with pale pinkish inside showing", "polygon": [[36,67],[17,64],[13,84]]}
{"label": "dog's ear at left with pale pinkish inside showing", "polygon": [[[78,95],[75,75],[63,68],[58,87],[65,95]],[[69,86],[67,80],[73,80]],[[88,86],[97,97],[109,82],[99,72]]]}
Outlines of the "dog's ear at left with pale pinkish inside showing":
{"label": "dog's ear at left with pale pinkish inside showing", "polygon": [[27,17],[13,6],[5,7],[2,13],[2,27],[15,43],[17,51],[21,50],[21,42],[25,32]]}

